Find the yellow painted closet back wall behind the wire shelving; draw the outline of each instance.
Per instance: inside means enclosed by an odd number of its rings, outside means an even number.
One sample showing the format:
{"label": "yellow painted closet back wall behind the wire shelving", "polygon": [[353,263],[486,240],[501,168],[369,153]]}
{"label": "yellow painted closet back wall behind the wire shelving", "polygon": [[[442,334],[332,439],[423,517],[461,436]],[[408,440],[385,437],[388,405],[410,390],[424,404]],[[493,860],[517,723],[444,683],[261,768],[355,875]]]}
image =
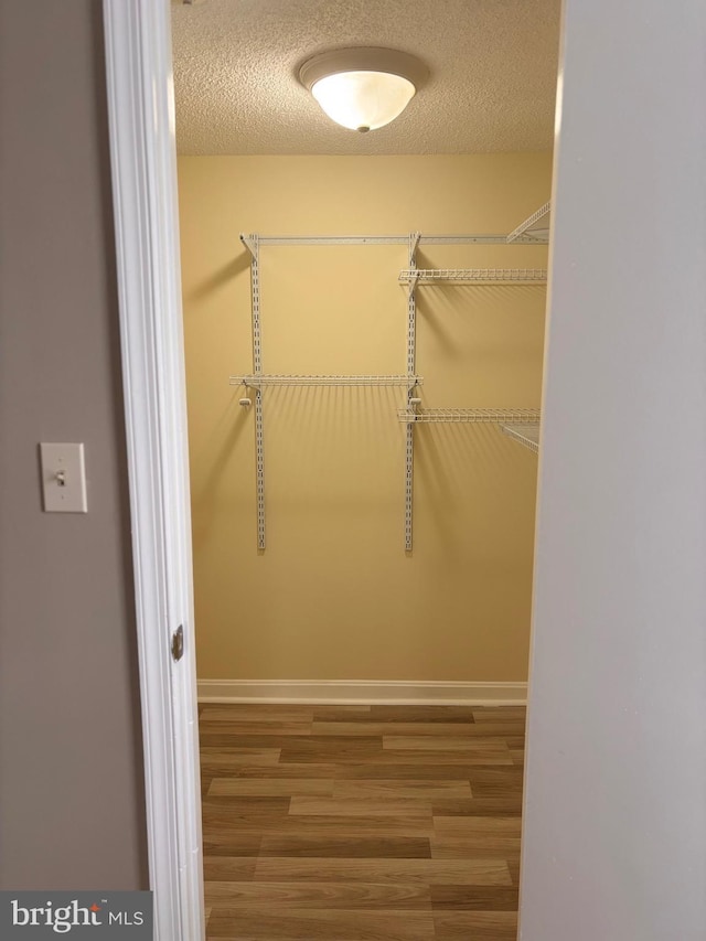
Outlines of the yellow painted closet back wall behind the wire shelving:
{"label": "yellow painted closet back wall behind the wire shelving", "polygon": [[[526,678],[536,456],[495,426],[416,428],[404,550],[400,388],[265,395],[256,548],[249,255],[263,235],[506,233],[550,156],[213,157],[179,165],[202,678]],[[405,246],[263,247],[266,373],[406,370]],[[537,246],[429,246],[420,267],[544,267]],[[545,288],[418,291],[427,407],[538,407]]]}

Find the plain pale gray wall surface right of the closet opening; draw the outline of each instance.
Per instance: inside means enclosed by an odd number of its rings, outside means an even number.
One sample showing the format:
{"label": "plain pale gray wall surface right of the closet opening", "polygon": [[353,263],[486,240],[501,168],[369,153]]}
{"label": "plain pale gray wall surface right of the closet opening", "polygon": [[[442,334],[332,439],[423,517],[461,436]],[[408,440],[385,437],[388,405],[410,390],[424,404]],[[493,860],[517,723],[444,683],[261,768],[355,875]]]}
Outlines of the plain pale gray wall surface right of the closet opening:
{"label": "plain pale gray wall surface right of the closet opening", "polygon": [[706,4],[567,0],[523,941],[706,932]]}

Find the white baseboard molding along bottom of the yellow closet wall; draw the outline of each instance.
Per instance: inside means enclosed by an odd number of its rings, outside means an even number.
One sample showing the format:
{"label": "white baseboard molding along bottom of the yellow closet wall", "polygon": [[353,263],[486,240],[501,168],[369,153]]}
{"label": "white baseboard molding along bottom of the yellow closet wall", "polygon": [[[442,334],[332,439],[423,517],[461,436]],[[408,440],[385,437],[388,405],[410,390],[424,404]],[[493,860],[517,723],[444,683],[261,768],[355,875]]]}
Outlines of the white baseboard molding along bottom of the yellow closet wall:
{"label": "white baseboard molding along bottom of the yellow closet wall", "polygon": [[406,680],[200,680],[199,702],[522,706],[527,702],[527,684]]}

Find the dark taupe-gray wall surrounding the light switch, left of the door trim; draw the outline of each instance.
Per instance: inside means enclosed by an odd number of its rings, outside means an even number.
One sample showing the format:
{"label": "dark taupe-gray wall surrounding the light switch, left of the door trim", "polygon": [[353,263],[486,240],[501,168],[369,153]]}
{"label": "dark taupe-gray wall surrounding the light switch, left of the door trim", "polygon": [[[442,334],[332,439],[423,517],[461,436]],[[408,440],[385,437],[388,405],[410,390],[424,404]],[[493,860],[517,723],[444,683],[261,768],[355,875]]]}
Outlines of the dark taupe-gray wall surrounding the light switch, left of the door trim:
{"label": "dark taupe-gray wall surrounding the light switch, left of the door trim", "polygon": [[[0,0],[0,886],[146,888],[99,0]],[[87,515],[39,441],[84,441]]]}

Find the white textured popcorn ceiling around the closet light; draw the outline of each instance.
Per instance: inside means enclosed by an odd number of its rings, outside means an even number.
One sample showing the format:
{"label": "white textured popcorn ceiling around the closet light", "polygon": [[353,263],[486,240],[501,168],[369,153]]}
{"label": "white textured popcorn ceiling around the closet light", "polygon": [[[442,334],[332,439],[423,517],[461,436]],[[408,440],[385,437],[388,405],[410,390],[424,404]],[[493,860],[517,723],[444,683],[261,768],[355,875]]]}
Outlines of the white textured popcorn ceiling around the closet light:
{"label": "white textured popcorn ceiling around the closet light", "polygon": [[[550,149],[560,0],[173,0],[184,154]],[[329,49],[391,46],[429,68],[387,127],[327,118],[297,81]]]}

